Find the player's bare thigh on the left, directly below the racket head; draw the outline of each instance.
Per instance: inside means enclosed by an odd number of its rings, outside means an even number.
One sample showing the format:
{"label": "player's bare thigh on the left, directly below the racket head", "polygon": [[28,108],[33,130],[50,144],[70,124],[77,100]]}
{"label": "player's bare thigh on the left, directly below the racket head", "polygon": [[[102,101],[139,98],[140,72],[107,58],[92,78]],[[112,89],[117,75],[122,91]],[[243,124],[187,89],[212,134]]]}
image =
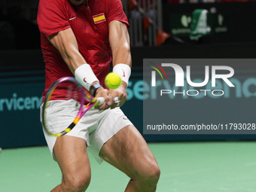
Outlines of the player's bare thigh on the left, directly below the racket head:
{"label": "player's bare thigh on the left, directly below the racket head", "polygon": [[90,182],[90,162],[84,139],[75,136],[61,136],[56,139],[53,152],[64,181],[71,184]]}

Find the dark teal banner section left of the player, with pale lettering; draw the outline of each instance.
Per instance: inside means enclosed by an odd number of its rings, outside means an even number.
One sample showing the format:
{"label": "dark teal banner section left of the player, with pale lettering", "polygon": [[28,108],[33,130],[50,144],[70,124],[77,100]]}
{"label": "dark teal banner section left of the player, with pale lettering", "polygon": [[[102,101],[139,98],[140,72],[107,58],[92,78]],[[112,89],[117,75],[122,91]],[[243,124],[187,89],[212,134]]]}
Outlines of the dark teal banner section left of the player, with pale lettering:
{"label": "dark teal banner section left of the player, with pale lettering", "polygon": [[0,147],[45,145],[39,120],[44,78],[4,78],[0,90]]}

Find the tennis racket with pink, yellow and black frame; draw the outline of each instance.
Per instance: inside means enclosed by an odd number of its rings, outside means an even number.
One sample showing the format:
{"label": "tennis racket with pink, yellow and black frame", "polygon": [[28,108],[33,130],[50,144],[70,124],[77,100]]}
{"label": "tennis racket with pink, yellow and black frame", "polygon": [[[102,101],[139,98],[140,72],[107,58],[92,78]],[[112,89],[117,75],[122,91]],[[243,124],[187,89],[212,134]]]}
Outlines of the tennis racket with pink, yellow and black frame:
{"label": "tennis racket with pink, yellow and black frame", "polygon": [[[60,120],[61,122],[59,121],[54,123],[54,120],[57,120],[56,118],[54,119],[53,117],[51,117],[53,115],[53,111],[50,112],[48,110],[48,107],[53,101],[69,99],[75,100],[74,103],[76,103],[74,105],[74,110],[72,108],[72,111],[75,111],[75,113],[77,112],[75,119],[73,119],[74,116],[62,117]],[[85,102],[87,102],[88,104],[84,105]],[[79,84],[78,81],[75,80],[75,78],[59,78],[59,80],[55,81],[45,93],[44,102],[42,105],[43,111],[41,112],[41,120],[44,130],[50,136],[64,136],[75,127],[81,117],[83,117],[83,115],[90,108],[93,108],[97,105],[102,105],[103,102],[103,97],[96,99],[95,97],[91,96],[89,91],[82,87],[81,84]],[[59,128],[56,129],[57,123],[66,124],[67,126],[65,126],[65,129],[59,130]]]}

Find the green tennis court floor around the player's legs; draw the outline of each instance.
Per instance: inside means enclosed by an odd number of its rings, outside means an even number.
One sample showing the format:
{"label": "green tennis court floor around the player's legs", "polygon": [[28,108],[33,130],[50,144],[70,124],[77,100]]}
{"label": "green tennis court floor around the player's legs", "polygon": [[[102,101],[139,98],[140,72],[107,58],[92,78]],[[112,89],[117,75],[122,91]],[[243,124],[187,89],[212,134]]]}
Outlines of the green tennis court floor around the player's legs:
{"label": "green tennis court floor around the player's legs", "polygon": [[[256,191],[256,142],[150,143],[161,169],[158,192]],[[124,191],[129,178],[90,156],[89,192]],[[4,149],[1,192],[46,192],[61,181],[47,147]]]}

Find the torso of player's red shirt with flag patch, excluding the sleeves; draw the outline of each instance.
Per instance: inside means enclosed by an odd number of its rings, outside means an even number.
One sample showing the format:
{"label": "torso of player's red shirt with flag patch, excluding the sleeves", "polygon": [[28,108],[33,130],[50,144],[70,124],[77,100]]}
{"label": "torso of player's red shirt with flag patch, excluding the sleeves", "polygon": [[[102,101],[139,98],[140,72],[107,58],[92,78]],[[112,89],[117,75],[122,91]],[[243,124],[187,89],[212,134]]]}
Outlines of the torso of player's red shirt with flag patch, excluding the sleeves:
{"label": "torso of player's red shirt with flag patch, excluding the sleeves", "polygon": [[[56,2],[62,9],[62,17],[66,18],[75,34],[81,55],[90,64],[100,83],[104,85],[104,78],[108,74],[111,62],[105,0],[87,0],[87,7],[71,5],[69,0],[56,0]],[[45,90],[47,90],[47,87],[58,78],[73,75],[59,51],[46,37],[42,37],[41,43],[46,62]]]}

